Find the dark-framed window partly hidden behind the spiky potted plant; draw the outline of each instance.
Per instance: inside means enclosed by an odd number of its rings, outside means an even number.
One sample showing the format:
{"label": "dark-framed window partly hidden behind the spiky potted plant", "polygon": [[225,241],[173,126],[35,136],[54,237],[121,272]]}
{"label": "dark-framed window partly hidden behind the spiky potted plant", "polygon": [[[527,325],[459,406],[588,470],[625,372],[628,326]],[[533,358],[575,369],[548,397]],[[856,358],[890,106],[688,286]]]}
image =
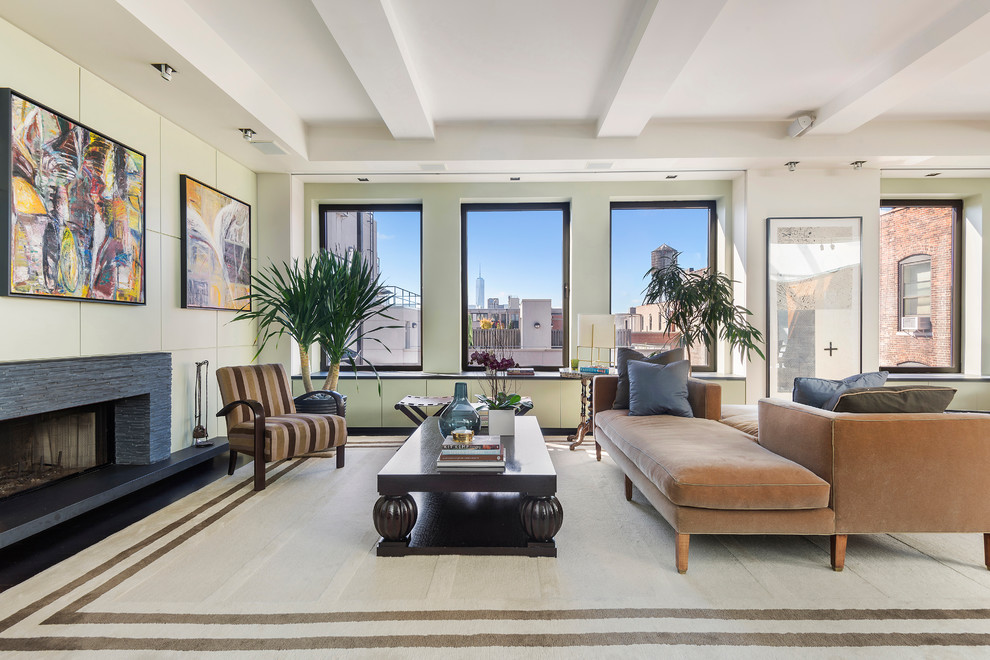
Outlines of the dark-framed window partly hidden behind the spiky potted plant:
{"label": "dark-framed window partly hidden behind the spiky potted plant", "polygon": [[[358,368],[423,368],[421,226],[419,205],[320,206],[320,247],[341,256],[359,253],[392,293],[393,306],[387,313],[395,320],[374,317],[367,323],[398,327],[370,332],[358,340]],[[372,337],[382,343],[371,341]],[[326,369],[325,358],[323,362]]]}

